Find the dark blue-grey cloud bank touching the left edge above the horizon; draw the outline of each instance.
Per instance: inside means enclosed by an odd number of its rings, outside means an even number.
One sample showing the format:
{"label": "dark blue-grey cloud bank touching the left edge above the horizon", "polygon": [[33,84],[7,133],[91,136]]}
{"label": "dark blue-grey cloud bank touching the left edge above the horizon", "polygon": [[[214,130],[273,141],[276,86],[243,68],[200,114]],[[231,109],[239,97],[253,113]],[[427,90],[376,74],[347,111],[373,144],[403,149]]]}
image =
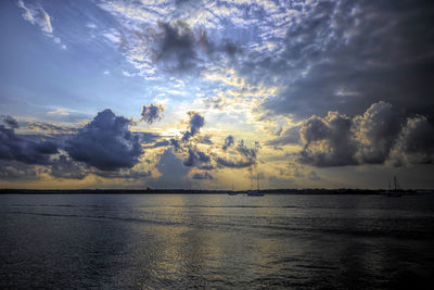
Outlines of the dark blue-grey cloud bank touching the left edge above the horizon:
{"label": "dark blue-grey cloud bank touching the left edge above the horizon", "polygon": [[53,141],[35,141],[13,129],[0,125],[0,160],[20,161],[26,164],[49,164],[50,155],[58,153]]}

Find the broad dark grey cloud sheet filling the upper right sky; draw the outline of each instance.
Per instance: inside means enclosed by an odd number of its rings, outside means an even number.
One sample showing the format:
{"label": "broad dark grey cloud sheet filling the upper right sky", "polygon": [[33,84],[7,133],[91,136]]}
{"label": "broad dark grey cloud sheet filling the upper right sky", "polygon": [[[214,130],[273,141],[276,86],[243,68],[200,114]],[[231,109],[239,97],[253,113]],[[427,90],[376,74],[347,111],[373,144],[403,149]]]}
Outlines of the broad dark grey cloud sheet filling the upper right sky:
{"label": "broad dark grey cloud sheet filling the upper right sky", "polygon": [[353,115],[380,100],[433,114],[433,15],[432,1],[322,1],[288,30],[277,55],[251,52],[239,71],[286,87],[264,103],[281,114]]}

